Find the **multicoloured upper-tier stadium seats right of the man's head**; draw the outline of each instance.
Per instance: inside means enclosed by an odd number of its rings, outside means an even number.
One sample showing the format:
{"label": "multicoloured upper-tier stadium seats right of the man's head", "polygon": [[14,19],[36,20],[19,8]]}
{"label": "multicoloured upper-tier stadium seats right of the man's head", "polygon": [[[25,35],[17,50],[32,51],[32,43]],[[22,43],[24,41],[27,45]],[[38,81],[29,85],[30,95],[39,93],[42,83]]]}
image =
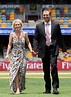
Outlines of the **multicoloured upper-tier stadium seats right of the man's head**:
{"label": "multicoloured upper-tier stadium seats right of the man's head", "polygon": [[52,20],[59,22],[61,27],[71,27],[71,7],[56,7],[56,11],[53,12],[52,16],[55,13],[56,17],[52,17]]}

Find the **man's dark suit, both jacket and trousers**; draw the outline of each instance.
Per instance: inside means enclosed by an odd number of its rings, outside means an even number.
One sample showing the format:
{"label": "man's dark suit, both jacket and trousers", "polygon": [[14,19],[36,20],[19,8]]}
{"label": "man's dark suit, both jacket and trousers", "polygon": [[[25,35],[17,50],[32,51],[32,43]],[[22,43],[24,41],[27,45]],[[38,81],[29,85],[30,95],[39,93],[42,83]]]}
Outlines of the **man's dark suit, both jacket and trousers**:
{"label": "man's dark suit, both jacket and trousers", "polygon": [[44,22],[36,25],[35,34],[33,38],[33,49],[38,51],[38,57],[42,59],[45,89],[51,91],[50,79],[50,62],[53,88],[59,88],[58,70],[57,70],[57,56],[59,53],[59,46],[63,52],[66,51],[61,29],[58,23],[51,21],[51,46],[46,46],[46,34]]}

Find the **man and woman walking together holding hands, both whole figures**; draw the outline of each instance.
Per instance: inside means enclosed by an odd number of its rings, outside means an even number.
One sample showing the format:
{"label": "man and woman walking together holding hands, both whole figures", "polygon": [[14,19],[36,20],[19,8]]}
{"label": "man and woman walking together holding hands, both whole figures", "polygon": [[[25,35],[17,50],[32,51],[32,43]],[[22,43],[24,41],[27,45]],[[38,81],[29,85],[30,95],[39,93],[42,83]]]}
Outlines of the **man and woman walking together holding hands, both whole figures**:
{"label": "man and woman walking together holding hands, both whole figures", "polygon": [[[27,60],[25,59],[25,42],[33,56],[38,56],[42,59],[45,91],[43,93],[51,93],[51,78],[50,78],[50,63],[53,94],[59,94],[59,78],[57,69],[57,56],[59,47],[62,48],[66,55],[66,47],[62,39],[60,25],[51,20],[51,12],[46,9],[42,12],[44,22],[36,25],[33,36],[33,47],[28,38],[28,34],[21,30],[22,21],[15,19],[12,23],[12,28],[15,32],[9,35],[9,43],[7,48],[6,59],[10,54],[10,88],[14,94],[20,94],[25,87],[25,74]],[[47,37],[47,26],[49,29],[49,37]],[[49,45],[48,45],[49,44]],[[33,49],[32,49],[33,48]]]}

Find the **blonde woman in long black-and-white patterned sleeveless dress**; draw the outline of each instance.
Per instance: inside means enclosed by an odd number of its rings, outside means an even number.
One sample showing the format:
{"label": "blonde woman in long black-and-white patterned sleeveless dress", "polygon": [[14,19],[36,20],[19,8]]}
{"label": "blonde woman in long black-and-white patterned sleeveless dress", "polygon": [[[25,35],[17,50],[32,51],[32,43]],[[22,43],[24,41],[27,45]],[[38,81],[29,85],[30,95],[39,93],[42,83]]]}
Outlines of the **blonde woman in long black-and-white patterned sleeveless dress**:
{"label": "blonde woman in long black-and-white patterned sleeveless dress", "polygon": [[6,59],[8,59],[13,45],[10,57],[10,88],[15,94],[20,94],[25,89],[27,64],[25,59],[25,41],[30,51],[33,52],[27,33],[21,30],[22,25],[22,21],[19,19],[13,21],[12,27],[15,32],[10,33],[6,55]]}

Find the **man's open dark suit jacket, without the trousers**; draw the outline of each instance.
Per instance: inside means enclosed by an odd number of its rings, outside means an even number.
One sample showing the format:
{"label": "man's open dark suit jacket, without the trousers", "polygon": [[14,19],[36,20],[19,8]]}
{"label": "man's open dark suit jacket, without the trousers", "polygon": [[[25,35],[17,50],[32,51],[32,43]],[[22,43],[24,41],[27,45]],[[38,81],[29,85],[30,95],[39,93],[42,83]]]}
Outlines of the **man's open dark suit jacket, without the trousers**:
{"label": "man's open dark suit jacket, without the trousers", "polygon": [[[62,39],[60,25],[51,21],[51,44],[53,45],[53,55],[58,55],[59,47],[62,48],[63,52],[66,51],[64,41]],[[38,51],[38,57],[43,58],[45,55],[46,47],[46,34],[44,22],[36,25],[35,34],[33,37],[33,49]]]}

